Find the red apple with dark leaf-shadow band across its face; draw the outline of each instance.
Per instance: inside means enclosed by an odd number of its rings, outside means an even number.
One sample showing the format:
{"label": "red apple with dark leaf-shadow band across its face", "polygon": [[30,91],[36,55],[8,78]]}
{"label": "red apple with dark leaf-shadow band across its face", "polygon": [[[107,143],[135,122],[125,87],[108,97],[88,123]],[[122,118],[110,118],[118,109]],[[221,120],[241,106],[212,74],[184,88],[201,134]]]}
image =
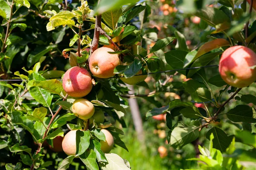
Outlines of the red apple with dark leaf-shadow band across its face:
{"label": "red apple with dark leaf-shadow band across its face", "polygon": [[78,66],[67,70],[63,77],[63,89],[72,97],[83,97],[90,93],[93,88],[90,73]]}

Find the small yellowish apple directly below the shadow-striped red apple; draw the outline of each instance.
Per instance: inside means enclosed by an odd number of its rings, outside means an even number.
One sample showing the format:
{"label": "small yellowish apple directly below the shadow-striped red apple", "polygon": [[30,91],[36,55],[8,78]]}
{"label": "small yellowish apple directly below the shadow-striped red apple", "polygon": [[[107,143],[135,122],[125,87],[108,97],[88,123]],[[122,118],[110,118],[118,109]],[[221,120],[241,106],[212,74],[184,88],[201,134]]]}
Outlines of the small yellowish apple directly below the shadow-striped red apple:
{"label": "small yellowish apple directly below the shadow-striped red apple", "polygon": [[87,99],[76,99],[72,105],[73,113],[80,119],[90,119],[94,114],[94,106]]}

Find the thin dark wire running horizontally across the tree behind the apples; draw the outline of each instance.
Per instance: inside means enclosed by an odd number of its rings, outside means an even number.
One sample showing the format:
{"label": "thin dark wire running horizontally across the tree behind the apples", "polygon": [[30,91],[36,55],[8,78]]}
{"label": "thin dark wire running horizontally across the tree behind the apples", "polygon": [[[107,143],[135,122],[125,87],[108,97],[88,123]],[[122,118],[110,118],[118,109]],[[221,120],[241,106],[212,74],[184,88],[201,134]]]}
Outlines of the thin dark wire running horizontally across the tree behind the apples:
{"label": "thin dark wire running horizontally across the tree behind the apples", "polygon": [[[182,70],[191,70],[191,69],[198,69],[198,68],[208,68],[208,67],[218,67],[219,65],[206,65],[206,66],[202,66],[202,67],[191,67],[191,68],[179,68],[179,69],[175,69],[175,70],[167,70],[167,71],[159,71],[159,72],[154,72],[154,73],[148,73],[148,74],[137,74],[134,76],[141,76],[141,75],[149,75],[149,74],[160,74],[160,73],[168,73],[168,72],[172,72],[172,71],[182,71]],[[93,76],[93,75],[92,75]],[[95,76],[93,76],[95,77]],[[124,76],[120,76],[120,77],[124,77]],[[108,79],[114,79],[114,78],[120,78],[120,77],[110,77]],[[50,80],[50,79],[47,79]],[[59,81],[62,81],[62,79],[58,79]],[[0,79],[0,81],[15,81],[15,82],[19,82],[19,81],[26,81],[26,80],[22,80],[22,79]]]}

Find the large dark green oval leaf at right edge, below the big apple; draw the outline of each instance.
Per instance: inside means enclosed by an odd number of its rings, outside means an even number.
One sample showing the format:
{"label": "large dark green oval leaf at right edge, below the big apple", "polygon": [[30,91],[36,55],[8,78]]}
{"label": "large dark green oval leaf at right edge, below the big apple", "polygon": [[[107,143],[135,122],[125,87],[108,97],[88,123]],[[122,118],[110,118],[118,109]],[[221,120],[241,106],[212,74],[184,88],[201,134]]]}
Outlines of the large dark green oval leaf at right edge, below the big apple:
{"label": "large dark green oval leaf at right edge, below the big apple", "polygon": [[256,111],[247,105],[237,105],[228,111],[226,115],[233,122],[256,123]]}

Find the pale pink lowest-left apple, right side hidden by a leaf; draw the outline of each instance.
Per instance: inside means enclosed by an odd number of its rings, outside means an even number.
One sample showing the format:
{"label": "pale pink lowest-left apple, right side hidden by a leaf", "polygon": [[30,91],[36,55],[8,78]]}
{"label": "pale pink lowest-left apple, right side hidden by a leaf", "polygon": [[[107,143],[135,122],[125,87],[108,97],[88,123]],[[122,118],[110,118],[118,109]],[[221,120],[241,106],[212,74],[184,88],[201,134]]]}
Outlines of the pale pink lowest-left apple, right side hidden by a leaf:
{"label": "pale pink lowest-left apple, right side hidden by a leaf", "polygon": [[68,155],[76,155],[76,131],[70,130],[63,138],[62,148],[63,151]]}

